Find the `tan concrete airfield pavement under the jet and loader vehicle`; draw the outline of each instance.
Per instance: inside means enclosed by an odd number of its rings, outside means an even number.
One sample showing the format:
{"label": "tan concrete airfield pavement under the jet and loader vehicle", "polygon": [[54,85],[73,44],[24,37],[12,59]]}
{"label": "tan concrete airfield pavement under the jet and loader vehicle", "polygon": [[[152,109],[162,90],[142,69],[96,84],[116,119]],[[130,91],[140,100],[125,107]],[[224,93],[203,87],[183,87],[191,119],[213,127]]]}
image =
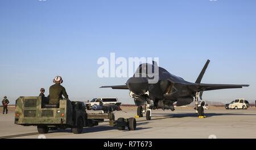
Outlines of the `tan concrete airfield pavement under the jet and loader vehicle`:
{"label": "tan concrete airfield pavement under the jet and loader vehicle", "polygon": [[[130,118],[136,114],[136,107],[123,108],[115,112],[115,118]],[[191,107],[179,107],[175,111],[153,110],[152,120],[137,118],[137,130],[118,131],[109,127],[107,121],[100,126],[86,127],[82,134],[75,135],[70,129],[50,131],[46,138],[89,138],[89,139],[208,139],[210,135],[220,139],[256,138],[256,108],[248,110],[225,110],[211,107],[205,110],[207,118],[199,119]],[[0,138],[35,139],[39,134],[34,126],[23,127],[14,124],[14,112],[0,114]]]}

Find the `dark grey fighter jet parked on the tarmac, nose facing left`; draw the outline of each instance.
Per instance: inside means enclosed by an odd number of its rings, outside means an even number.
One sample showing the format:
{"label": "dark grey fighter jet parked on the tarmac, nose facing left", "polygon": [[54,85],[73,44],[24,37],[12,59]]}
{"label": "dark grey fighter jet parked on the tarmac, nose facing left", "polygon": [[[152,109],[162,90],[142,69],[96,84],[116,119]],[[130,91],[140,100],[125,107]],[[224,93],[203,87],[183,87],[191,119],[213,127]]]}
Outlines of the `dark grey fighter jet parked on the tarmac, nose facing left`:
{"label": "dark grey fighter jet parked on the tarmac, nose facing left", "polygon": [[[151,110],[163,109],[174,111],[176,106],[185,106],[193,102],[195,98],[196,110],[199,98],[203,99],[203,92],[209,90],[234,89],[249,85],[226,85],[226,84],[201,84],[205,70],[209,65],[208,60],[199,74],[195,83],[185,81],[181,77],[174,76],[166,69],[161,68],[153,61],[152,64],[141,64],[133,77],[129,78],[125,85],[102,86],[112,89],[130,90],[130,96],[134,98],[138,106],[137,115],[142,117],[146,114],[147,120],[151,119]],[[158,70],[156,72],[155,70]],[[150,82],[152,77],[158,76],[156,82]]]}

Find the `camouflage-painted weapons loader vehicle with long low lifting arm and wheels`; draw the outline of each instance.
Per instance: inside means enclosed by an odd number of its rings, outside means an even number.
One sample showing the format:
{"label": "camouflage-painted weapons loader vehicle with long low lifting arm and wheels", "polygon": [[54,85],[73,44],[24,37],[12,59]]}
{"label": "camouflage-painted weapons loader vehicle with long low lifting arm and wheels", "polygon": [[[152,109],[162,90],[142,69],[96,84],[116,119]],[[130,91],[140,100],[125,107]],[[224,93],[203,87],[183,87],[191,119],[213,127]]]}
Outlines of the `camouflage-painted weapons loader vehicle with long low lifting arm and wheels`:
{"label": "camouflage-painted weapons loader vehicle with long low lifting arm and wheels", "polygon": [[19,97],[16,100],[15,124],[37,126],[39,134],[49,130],[71,128],[74,134],[81,134],[84,127],[98,126],[99,122],[109,119],[110,127],[118,130],[136,130],[135,118],[118,118],[113,112],[86,113],[83,102],[60,100],[59,105],[48,105],[44,97]]}

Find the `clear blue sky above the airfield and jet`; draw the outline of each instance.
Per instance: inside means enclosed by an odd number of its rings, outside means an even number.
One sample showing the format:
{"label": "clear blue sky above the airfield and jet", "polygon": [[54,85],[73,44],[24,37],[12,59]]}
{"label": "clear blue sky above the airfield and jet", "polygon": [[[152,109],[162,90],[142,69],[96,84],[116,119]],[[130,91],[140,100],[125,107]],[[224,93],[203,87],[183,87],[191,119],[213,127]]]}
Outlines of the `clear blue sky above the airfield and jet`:
{"label": "clear blue sky above the airfield and jet", "polygon": [[118,97],[98,89],[127,78],[98,78],[97,60],[159,57],[172,74],[195,82],[250,84],[207,91],[208,101],[256,100],[256,1],[0,1],[0,97],[38,95],[60,75],[72,100]]}

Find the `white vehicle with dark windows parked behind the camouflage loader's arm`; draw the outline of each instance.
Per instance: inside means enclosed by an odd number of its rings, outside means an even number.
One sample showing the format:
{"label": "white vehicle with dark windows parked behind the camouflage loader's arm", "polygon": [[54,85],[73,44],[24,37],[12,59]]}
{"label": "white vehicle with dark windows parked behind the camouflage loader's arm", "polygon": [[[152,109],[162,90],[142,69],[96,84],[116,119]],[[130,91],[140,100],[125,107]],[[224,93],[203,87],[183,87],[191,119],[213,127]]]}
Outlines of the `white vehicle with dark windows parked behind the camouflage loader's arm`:
{"label": "white vehicle with dark windows parked behind the camouflage loader's arm", "polygon": [[93,98],[92,101],[85,102],[85,106],[86,106],[86,108],[88,108],[88,107],[93,106],[93,105],[100,105],[100,102],[102,102],[103,104],[106,104],[106,103],[112,103],[112,104],[119,103],[117,98]]}

